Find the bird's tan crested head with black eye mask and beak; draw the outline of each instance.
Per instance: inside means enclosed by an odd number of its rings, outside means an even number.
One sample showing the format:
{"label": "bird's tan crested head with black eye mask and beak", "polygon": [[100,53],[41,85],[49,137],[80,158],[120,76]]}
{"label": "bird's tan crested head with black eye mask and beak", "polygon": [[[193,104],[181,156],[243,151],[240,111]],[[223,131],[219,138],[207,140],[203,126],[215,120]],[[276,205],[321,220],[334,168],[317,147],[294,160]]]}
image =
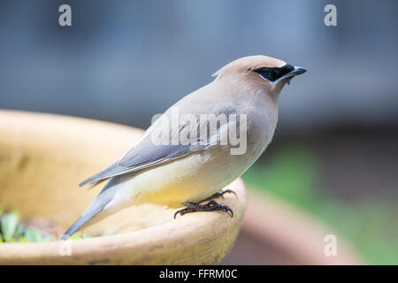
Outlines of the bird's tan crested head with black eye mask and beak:
{"label": "bird's tan crested head with black eye mask and beak", "polygon": [[[305,73],[302,67],[263,55],[241,57],[222,67],[213,76],[219,80],[238,82],[254,91],[265,90],[278,98],[280,90],[296,75]],[[227,80],[227,81],[226,81]]]}

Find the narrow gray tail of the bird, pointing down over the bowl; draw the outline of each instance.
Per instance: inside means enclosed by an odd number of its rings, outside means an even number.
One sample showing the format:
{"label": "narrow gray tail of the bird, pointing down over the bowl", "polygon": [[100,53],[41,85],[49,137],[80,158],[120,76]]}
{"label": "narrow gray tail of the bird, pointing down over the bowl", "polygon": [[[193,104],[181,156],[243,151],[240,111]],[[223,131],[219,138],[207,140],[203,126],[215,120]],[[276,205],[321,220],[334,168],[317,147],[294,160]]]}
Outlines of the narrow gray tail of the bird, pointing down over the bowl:
{"label": "narrow gray tail of the bird, pointing down over the bowl", "polygon": [[[68,230],[66,230],[64,235],[62,235],[61,240],[68,239],[73,233],[78,231],[81,226],[84,226],[90,219],[94,218],[101,210],[103,210],[106,204],[111,202],[113,195],[115,194],[116,187],[109,187],[108,185],[110,185],[110,183],[111,182],[108,182],[108,184],[103,187],[101,193],[96,197],[93,203],[90,204],[88,209],[73,223],[72,226],[69,227]],[[105,216],[106,213],[103,217]],[[98,218],[97,220],[101,219],[102,218]]]}

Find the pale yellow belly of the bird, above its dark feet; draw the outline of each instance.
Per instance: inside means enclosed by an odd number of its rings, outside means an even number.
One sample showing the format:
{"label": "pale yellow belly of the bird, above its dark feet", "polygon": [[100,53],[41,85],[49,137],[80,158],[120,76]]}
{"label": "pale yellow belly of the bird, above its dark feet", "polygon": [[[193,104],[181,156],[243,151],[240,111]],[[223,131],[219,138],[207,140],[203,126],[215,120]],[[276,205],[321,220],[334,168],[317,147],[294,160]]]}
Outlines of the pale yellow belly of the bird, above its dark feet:
{"label": "pale yellow belly of the bird, above its dark feet", "polygon": [[207,150],[143,170],[120,184],[109,208],[141,203],[180,207],[202,201],[239,177],[244,165],[231,158],[229,152]]}

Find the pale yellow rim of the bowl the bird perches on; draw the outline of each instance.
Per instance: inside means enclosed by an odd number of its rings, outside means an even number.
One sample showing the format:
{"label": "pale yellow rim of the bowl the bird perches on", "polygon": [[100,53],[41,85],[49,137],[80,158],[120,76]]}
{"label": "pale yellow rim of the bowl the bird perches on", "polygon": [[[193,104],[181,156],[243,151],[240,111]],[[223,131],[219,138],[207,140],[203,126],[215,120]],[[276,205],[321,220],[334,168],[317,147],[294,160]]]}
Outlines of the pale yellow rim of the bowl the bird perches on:
{"label": "pale yellow rim of the bowl the bird perches on", "polygon": [[[119,124],[94,119],[0,110],[0,121],[1,119],[11,121],[15,118],[39,119],[44,125],[46,120],[57,119],[57,123],[73,122],[86,126],[110,126],[123,128],[124,131],[126,128],[132,132],[137,131],[134,127],[120,127]],[[191,258],[186,260],[185,264],[218,264],[231,249],[239,233],[247,205],[246,190],[240,179],[234,180],[227,187],[233,189],[237,196],[220,198],[219,203],[229,205],[233,209],[233,218],[225,212],[195,212],[158,226],[89,239],[39,243],[4,242],[0,244],[0,264],[179,264],[178,255],[172,256],[170,260],[167,258],[173,248],[178,249],[177,254],[189,249],[191,254],[198,253],[198,259]],[[201,233],[197,233],[198,229]],[[226,242],[223,244],[223,241]],[[209,251],[210,248],[213,250]],[[68,249],[72,252],[70,256],[67,256]],[[136,255],[145,249],[148,249],[149,253]],[[64,250],[64,256],[61,250]]]}

